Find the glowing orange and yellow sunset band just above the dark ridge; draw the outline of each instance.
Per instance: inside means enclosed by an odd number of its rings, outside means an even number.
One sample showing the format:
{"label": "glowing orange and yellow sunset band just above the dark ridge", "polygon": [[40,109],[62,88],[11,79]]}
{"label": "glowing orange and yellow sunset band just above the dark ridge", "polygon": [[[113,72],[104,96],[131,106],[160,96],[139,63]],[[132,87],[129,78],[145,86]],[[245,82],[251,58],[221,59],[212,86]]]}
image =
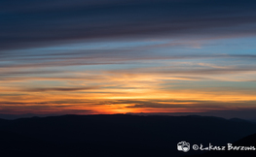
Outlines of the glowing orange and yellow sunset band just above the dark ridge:
{"label": "glowing orange and yellow sunset band just above the dark ridge", "polygon": [[[186,78],[175,76],[113,72],[96,76],[76,73],[74,78],[66,79],[7,80],[0,87],[0,108],[7,110],[5,113],[201,112],[251,108],[250,102],[256,101],[254,90],[178,88],[175,84]],[[51,81],[62,84],[52,87]]]}

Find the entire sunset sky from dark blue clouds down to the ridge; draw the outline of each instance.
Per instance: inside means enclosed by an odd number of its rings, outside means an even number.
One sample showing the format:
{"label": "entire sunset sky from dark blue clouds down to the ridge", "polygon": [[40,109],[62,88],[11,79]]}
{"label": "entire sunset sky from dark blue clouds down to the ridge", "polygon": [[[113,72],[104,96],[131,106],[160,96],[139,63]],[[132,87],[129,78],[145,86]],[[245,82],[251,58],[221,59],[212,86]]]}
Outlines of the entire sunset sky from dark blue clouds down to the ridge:
{"label": "entire sunset sky from dark blue clouds down to the ridge", "polygon": [[0,0],[0,114],[256,118],[254,0]]}

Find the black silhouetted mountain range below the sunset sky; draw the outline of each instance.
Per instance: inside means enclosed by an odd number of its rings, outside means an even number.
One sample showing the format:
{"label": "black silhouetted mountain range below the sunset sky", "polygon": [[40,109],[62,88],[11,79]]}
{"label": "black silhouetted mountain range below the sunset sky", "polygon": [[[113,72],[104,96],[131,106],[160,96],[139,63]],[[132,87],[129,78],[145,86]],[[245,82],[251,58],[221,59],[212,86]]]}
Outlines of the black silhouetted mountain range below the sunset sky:
{"label": "black silhouetted mountain range below the sunset sky", "polygon": [[[246,138],[238,140],[255,133],[253,122],[197,115],[62,115],[0,119],[0,154],[25,157],[204,155],[205,151],[178,151],[177,143],[224,145],[237,141],[246,144],[250,142]],[[253,137],[255,139],[255,135]]]}

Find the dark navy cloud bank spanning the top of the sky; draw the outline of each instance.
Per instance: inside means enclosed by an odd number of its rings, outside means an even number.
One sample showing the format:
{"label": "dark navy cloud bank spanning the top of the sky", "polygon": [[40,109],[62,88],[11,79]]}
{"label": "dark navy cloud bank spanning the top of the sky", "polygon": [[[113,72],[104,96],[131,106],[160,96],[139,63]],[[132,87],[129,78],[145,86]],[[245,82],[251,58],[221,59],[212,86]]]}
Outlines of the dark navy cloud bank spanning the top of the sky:
{"label": "dark navy cloud bank spanning the top of the sky", "polygon": [[251,35],[255,34],[255,6],[252,0],[1,0],[0,47],[166,34]]}

